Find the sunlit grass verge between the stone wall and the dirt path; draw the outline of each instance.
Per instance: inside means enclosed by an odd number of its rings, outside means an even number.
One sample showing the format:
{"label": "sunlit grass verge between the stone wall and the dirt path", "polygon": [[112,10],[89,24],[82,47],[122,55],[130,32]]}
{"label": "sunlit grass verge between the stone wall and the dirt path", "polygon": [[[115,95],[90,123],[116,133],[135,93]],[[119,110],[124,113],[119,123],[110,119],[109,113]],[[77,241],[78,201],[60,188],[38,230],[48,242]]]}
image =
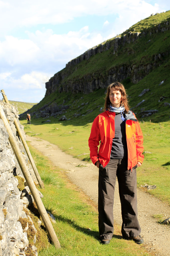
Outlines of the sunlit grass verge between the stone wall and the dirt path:
{"label": "sunlit grass verge between the stone wall and the dirt path", "polygon": [[141,252],[150,255],[143,245],[123,240],[117,225],[110,244],[100,244],[96,206],[69,182],[62,170],[53,167],[46,157],[29,147],[38,172],[44,178],[45,189],[40,189],[44,195],[42,201],[46,210],[56,218],[56,224],[52,224],[61,244],[61,248],[56,249],[49,243],[48,247],[39,249],[39,256],[137,256]]}

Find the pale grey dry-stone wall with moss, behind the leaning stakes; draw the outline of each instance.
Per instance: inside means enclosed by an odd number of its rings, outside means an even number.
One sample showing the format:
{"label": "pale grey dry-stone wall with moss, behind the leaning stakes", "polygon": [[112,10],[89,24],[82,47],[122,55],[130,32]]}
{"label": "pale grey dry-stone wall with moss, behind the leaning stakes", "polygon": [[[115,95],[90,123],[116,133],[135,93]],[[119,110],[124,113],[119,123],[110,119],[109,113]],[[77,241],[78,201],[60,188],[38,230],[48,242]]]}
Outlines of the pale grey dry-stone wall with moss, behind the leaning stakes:
{"label": "pale grey dry-stone wall with moss, behind the leaning stakes", "polygon": [[[23,157],[27,163],[30,174],[34,182],[38,184],[14,125],[14,118],[16,117],[18,120],[19,117],[18,112],[12,105],[12,109],[10,109],[9,105],[6,103],[1,101],[0,104],[2,105],[19,148],[23,153]],[[20,128],[23,131],[23,126],[21,124]],[[30,220],[30,216],[28,214],[30,211],[27,207],[32,203],[33,197],[30,194],[30,190],[25,179],[23,178],[17,159],[8,141],[7,130],[1,119],[0,139],[0,255],[24,256],[29,246],[29,240],[27,237],[29,227],[27,225],[27,227],[23,229],[21,225],[22,221],[20,222],[19,220],[26,218],[29,221],[32,221]],[[32,222],[32,228],[33,226]],[[35,241],[36,236],[34,238],[34,242]],[[38,255],[34,244],[32,244],[31,250],[32,254],[30,255]]]}

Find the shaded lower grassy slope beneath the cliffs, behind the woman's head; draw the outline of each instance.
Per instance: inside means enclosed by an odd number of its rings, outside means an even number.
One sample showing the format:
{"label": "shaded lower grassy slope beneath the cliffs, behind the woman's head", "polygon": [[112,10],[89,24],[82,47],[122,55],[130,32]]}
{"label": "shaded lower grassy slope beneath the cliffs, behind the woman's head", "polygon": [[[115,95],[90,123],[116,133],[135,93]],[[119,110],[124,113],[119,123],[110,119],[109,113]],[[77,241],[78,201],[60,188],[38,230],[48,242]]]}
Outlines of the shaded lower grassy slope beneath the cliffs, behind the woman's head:
{"label": "shaded lower grassy slope beneath the cliffs, behind the woman's head", "polygon": [[[168,65],[169,65],[168,61]],[[165,80],[161,85],[160,82]],[[139,81],[137,84],[126,83],[124,81],[124,86],[127,88],[127,93],[129,95],[129,105],[133,108],[133,112],[136,114],[139,120],[152,122],[162,122],[168,121],[170,116],[170,108],[164,106],[164,103],[170,103],[170,91],[169,91],[170,77],[168,69],[160,66],[157,70],[152,71],[145,78]],[[143,91],[143,89],[150,89],[142,97],[138,95]],[[68,120],[66,123],[77,125],[82,123],[85,125],[87,123],[93,122],[94,118],[102,112],[100,110],[104,106],[104,97],[106,89],[98,89],[90,94],[77,93],[60,93],[57,97],[57,93],[54,92],[49,96],[46,96],[39,104],[35,105],[32,111],[38,110],[40,107],[44,106],[47,102],[57,102],[58,105],[69,105],[70,108],[63,112],[63,115],[67,117]],[[162,101],[159,102],[160,97],[165,97]],[[138,107],[135,107],[139,102],[145,100]],[[141,118],[139,113],[141,108],[145,110],[158,110],[157,113],[152,114],[149,117]],[[48,119],[51,122],[58,122],[61,116],[58,115],[57,118],[49,117]],[[33,118],[33,115],[32,115]],[[45,121],[46,119],[42,119]],[[63,122],[64,123],[64,122]]]}

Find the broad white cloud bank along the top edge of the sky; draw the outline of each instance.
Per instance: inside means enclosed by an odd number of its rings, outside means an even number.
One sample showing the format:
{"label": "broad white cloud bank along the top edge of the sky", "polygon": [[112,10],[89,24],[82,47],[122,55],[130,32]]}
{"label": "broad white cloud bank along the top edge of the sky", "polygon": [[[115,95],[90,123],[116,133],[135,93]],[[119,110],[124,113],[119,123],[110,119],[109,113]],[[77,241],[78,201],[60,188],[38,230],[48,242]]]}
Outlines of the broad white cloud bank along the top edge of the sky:
{"label": "broad white cloud bank along the top edge of the sky", "polygon": [[[158,0],[157,0],[158,1]],[[10,31],[15,27],[33,26],[37,24],[67,23],[76,17],[87,15],[109,15],[135,12],[146,16],[163,11],[158,5],[152,6],[141,0],[30,0],[30,1],[1,1],[0,29]]]}

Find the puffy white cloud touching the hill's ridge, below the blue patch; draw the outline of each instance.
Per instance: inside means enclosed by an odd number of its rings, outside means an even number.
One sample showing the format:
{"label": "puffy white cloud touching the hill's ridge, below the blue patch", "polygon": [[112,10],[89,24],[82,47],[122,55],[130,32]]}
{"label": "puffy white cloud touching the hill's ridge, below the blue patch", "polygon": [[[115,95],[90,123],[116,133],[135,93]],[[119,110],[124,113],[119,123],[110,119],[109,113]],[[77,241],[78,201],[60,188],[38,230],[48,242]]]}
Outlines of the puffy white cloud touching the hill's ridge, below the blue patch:
{"label": "puffy white cloud touching the hill's ridge, below the blue patch", "polygon": [[54,34],[52,30],[27,33],[29,39],[40,48],[38,59],[60,62],[64,66],[72,58],[105,40],[100,33],[89,33],[88,26],[62,35]]}

